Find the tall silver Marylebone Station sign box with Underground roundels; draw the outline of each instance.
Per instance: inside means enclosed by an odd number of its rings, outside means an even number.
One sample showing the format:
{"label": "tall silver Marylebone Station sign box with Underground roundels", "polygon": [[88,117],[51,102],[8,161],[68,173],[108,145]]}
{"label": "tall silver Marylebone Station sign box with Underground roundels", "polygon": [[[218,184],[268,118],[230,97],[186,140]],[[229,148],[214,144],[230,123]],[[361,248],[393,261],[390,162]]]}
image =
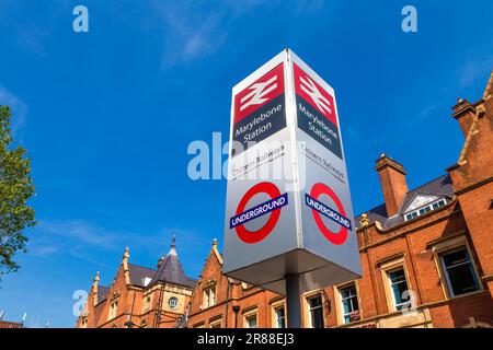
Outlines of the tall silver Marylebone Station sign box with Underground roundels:
{"label": "tall silver Marylebone Station sign box with Underground roundels", "polygon": [[237,84],[231,104],[225,273],[277,293],[287,275],[302,290],[358,278],[333,89],[287,49]]}

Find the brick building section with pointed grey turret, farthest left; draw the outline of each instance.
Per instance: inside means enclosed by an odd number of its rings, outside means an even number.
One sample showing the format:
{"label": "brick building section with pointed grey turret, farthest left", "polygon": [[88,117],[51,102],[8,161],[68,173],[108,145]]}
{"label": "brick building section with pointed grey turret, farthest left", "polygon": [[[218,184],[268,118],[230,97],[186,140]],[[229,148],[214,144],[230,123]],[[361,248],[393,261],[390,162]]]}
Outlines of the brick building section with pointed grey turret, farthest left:
{"label": "brick building section with pointed grey turret, farthest left", "polygon": [[185,276],[174,238],[170,252],[159,259],[156,269],[128,260],[126,248],[110,287],[99,284],[100,273],[96,272],[77,320],[78,328],[172,328],[184,322],[196,280]]}

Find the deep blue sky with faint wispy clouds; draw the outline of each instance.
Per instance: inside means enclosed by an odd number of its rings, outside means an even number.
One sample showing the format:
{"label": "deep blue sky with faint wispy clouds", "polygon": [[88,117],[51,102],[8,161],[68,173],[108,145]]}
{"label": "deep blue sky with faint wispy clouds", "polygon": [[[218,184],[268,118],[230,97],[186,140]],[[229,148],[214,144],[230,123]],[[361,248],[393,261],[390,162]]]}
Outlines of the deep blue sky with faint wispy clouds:
{"label": "deep blue sky with faint wispy clouds", "polygon": [[[493,68],[491,1],[0,1],[0,103],[32,158],[37,228],[0,310],[72,327],[96,270],[154,266],[173,234],[197,277],[221,238],[225,180],[192,182],[187,145],[229,130],[231,88],[290,47],[336,91],[355,211],[382,202],[381,152],[410,188],[444,174],[463,141],[450,107]],[[401,31],[401,9],[419,31]],[[89,9],[90,32],[72,31]],[[196,215],[199,213],[199,215]],[[220,240],[221,241],[221,240]]]}

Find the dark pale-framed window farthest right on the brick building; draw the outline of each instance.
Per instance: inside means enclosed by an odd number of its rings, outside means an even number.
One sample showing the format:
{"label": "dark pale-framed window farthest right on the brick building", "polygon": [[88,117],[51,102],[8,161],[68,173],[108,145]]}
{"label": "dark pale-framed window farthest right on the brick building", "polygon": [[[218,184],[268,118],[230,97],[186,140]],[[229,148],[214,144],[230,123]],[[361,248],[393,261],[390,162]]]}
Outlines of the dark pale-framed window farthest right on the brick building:
{"label": "dark pale-framed window farthest right on the brick building", "polygon": [[472,261],[466,247],[440,255],[450,296],[480,290]]}

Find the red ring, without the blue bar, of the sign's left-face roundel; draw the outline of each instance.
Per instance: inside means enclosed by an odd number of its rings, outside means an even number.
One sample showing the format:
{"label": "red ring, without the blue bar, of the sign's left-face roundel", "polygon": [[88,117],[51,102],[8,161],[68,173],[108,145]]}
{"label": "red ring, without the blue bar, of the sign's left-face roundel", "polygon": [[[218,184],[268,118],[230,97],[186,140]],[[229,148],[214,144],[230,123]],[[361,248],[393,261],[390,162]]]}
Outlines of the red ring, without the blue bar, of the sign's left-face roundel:
{"label": "red ring, without the blue bar, of the sign's left-face roundel", "polygon": [[[250,199],[252,199],[252,197],[257,194],[267,194],[272,199],[280,196],[279,189],[273,183],[264,182],[256,184],[255,186],[250,188],[246,194],[244,194],[243,198],[238,205],[236,214],[241,214],[244,211],[244,208],[246,207],[246,203],[250,201]],[[277,221],[279,220],[280,209],[282,208],[274,210],[271,213],[271,218],[268,218],[267,223],[257,231],[249,231],[243,225],[236,226],[234,229],[237,231],[238,237],[244,243],[249,244],[262,241],[272,232],[272,230],[274,230]]]}

